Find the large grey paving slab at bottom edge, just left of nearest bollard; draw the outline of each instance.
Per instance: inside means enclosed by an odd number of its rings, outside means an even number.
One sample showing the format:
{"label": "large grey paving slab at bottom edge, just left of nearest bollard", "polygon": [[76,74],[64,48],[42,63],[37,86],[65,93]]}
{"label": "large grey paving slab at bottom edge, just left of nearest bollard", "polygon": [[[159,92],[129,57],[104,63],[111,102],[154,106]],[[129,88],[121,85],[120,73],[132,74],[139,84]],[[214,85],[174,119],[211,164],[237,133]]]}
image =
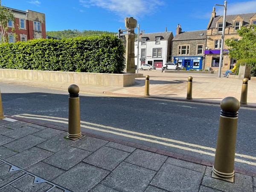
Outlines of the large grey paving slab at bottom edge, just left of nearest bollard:
{"label": "large grey paving slab at bottom edge, just left of nearest bollard", "polygon": [[202,177],[203,173],[164,163],[150,184],[168,191],[198,192]]}

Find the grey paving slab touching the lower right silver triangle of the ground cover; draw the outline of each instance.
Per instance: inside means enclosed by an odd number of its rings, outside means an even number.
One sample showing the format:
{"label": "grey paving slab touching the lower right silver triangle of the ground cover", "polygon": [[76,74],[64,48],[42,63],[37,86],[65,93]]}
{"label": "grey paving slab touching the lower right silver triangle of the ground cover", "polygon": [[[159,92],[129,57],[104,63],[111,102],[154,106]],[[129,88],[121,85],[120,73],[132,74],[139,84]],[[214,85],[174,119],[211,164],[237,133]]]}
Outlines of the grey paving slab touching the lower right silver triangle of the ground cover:
{"label": "grey paving slab touching the lower right silver triangle of the ground cover", "polygon": [[30,166],[27,170],[32,174],[39,175],[41,178],[49,181],[55,179],[65,172],[57,167],[43,162],[36,163],[35,165]]}

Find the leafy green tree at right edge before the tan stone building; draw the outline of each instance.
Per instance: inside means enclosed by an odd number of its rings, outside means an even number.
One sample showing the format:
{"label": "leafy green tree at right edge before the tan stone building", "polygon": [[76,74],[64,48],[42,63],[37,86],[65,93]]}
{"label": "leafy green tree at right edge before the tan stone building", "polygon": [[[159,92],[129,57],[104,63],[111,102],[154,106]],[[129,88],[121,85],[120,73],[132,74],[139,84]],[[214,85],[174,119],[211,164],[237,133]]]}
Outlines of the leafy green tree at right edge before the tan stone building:
{"label": "leafy green tree at right edge before the tan stone building", "polygon": [[226,45],[230,47],[228,49],[230,57],[236,59],[256,58],[256,25],[251,25],[249,28],[243,26],[241,29],[237,29],[238,35],[241,37],[239,41],[235,41],[234,38],[227,39]]}

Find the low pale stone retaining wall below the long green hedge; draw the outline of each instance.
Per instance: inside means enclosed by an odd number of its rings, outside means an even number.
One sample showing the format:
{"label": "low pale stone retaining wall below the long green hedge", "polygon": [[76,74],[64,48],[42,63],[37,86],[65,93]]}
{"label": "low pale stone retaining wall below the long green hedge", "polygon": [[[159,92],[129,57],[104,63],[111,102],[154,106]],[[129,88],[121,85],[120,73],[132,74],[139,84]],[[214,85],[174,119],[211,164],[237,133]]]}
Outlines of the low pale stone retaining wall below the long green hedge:
{"label": "low pale stone retaining wall below the long green hedge", "polygon": [[0,77],[49,82],[68,82],[97,86],[126,87],[135,83],[135,74],[78,73],[64,71],[38,71],[0,69]]}

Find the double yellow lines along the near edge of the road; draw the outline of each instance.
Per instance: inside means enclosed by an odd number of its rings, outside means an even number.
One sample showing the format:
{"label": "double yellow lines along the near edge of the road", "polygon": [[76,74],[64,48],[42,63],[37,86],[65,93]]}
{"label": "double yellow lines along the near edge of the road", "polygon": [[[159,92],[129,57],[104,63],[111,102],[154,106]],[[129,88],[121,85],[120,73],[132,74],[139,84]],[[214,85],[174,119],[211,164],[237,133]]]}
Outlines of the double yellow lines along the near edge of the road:
{"label": "double yellow lines along the near edge of the road", "polygon": [[[26,115],[26,116],[22,116],[22,115]],[[21,115],[14,115],[14,116],[28,118],[28,119],[40,119],[40,120],[60,122],[60,123],[68,124],[68,122],[67,122],[68,119],[67,118],[61,118],[61,117],[32,115],[32,114],[26,114],[26,113],[21,114]],[[34,117],[28,117],[28,116],[34,116]],[[52,118],[52,119],[44,119],[44,118],[39,118],[39,117],[47,117],[47,118]],[[62,120],[65,120],[65,121],[53,120],[53,119],[62,119]],[[178,143],[178,144],[182,144],[182,145],[189,145],[189,146],[192,146],[192,147],[202,148],[202,149],[206,149],[206,150],[210,150],[210,151],[215,151],[215,148],[204,147],[204,146],[201,146],[201,145],[195,145],[195,144],[191,144],[191,143],[185,143],[185,142],[182,142],[182,141],[171,140],[171,139],[163,138],[163,137],[156,137],[154,135],[142,134],[142,133],[138,133],[138,132],[134,132],[134,131],[128,131],[128,130],[113,128],[113,127],[109,127],[109,126],[104,126],[104,125],[99,125],[99,124],[84,122],[84,121],[81,121],[81,123],[85,123],[85,124],[88,124],[88,125],[94,125],[94,126],[98,126],[98,127],[102,127],[102,128],[108,128],[108,129],[112,129],[112,130],[116,130],[116,131],[122,131],[122,132],[126,132],[126,133],[131,133],[131,134],[137,134],[137,135],[144,136],[144,137],[151,137],[151,138],[154,138],[154,139],[169,141],[169,142],[172,142],[172,143]],[[213,157],[215,156],[215,154],[210,153],[210,152],[206,152],[206,151],[202,151],[202,150],[198,150],[198,149],[192,149],[192,148],[188,148],[188,147],[183,147],[183,146],[180,146],[180,145],[174,145],[174,144],[164,143],[164,142],[151,140],[151,139],[147,139],[147,138],[143,138],[143,137],[137,137],[137,136],[118,133],[118,132],[114,132],[114,131],[108,131],[108,130],[105,130],[105,129],[94,128],[94,127],[90,127],[90,126],[87,126],[87,125],[81,125],[81,127],[88,128],[88,129],[93,129],[93,130],[96,130],[96,131],[102,131],[102,132],[107,132],[107,133],[111,133],[111,134],[116,134],[116,135],[120,135],[120,136],[124,136],[124,137],[129,137],[129,138],[133,138],[133,139],[137,139],[137,140],[148,141],[148,142],[151,142],[151,143],[158,143],[158,144],[161,144],[161,145],[166,145],[166,146],[174,147],[174,148],[180,148],[180,149],[187,150],[187,151],[193,151],[193,152],[197,152],[197,153],[201,153],[201,154],[207,154],[207,155],[210,155],[210,156],[213,156]],[[235,155],[239,156],[239,157],[244,157],[244,158],[247,158],[247,159],[256,160],[256,157],[249,156],[249,155],[244,155],[244,154],[235,154]],[[245,160],[241,160],[241,159],[237,159],[237,158],[235,159],[235,161],[256,166],[256,163],[253,163],[253,162],[250,162],[250,161],[245,161]]]}

